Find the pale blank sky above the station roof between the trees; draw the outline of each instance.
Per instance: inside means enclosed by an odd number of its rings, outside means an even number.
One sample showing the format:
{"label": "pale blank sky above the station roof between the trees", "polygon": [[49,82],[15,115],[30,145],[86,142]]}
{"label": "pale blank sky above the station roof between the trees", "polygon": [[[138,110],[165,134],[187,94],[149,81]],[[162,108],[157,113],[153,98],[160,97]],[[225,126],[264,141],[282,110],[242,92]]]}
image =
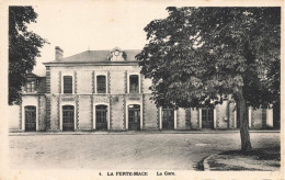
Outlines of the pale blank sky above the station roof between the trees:
{"label": "pale blank sky above the station roof between the trees", "polygon": [[[62,1],[64,2],[64,1]],[[36,59],[34,72],[45,76],[44,61],[55,59],[55,46],[64,49],[64,57],[84,50],[142,49],[144,27],[152,20],[168,15],[166,5],[150,1],[95,1],[92,3],[46,3],[33,5],[37,22],[29,24],[50,44],[45,44]]]}

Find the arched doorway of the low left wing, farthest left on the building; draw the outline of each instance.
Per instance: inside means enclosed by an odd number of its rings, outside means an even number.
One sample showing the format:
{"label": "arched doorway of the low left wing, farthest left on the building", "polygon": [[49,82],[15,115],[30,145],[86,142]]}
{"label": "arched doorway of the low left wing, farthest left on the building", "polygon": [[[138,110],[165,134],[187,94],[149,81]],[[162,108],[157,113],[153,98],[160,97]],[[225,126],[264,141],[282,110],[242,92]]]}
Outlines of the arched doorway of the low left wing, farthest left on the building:
{"label": "arched doorway of the low left wing, farthest left on the building", "polygon": [[25,131],[35,132],[36,131],[36,108],[25,106]]}

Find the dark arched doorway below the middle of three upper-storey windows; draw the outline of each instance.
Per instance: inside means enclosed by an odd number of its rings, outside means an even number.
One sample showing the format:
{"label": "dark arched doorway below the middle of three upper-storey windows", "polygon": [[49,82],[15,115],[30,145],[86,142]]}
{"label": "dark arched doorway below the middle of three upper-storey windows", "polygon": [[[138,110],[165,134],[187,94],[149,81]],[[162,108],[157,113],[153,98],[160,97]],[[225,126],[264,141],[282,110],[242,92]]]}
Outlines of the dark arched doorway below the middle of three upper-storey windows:
{"label": "dark arched doorway below the middle of three upper-storey windows", "polygon": [[107,105],[95,106],[96,130],[107,130]]}

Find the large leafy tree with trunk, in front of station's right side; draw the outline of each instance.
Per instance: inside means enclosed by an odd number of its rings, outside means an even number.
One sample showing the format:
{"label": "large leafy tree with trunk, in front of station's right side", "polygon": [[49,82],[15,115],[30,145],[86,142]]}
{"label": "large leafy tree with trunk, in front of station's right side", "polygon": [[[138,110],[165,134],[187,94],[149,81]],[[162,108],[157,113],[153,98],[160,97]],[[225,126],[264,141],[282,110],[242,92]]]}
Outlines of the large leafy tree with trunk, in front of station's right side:
{"label": "large leafy tree with trunk, in front of station's right side", "polygon": [[231,97],[241,150],[251,150],[247,108],[280,101],[281,8],[168,8],[146,27],[136,57],[158,105],[197,108]]}

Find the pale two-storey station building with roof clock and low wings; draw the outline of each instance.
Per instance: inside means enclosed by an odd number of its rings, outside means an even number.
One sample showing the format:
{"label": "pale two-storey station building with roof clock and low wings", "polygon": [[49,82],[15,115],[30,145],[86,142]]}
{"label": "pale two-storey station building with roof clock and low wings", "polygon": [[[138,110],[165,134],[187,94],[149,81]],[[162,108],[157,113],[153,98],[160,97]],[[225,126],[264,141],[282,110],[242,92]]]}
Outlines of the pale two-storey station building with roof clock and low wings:
{"label": "pale two-storey station building with roof clock and low wings", "polygon": [[[87,50],[44,63],[46,77],[30,74],[23,87],[19,131],[147,131],[238,128],[235,102],[213,108],[157,106],[151,80],[140,74],[140,50]],[[250,128],[273,127],[272,109],[248,111]]]}

